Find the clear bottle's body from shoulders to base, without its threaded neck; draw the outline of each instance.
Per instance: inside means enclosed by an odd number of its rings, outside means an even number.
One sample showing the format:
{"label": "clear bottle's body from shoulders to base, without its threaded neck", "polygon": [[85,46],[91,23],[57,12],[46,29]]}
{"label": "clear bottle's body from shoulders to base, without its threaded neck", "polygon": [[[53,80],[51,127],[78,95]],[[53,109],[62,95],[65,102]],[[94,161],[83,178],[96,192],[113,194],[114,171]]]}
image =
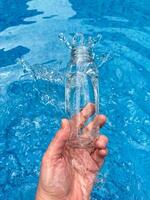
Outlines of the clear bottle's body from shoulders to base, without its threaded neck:
{"label": "clear bottle's body from shoulders to base, without its threaded neck", "polygon": [[[65,85],[65,109],[69,118],[78,114],[88,103],[95,105],[95,114],[89,118],[85,126],[99,113],[99,77],[95,63],[75,62],[68,66]],[[79,119],[80,120],[80,119]],[[79,123],[79,122],[78,122]],[[86,148],[99,131],[92,133],[90,138],[83,139],[82,130],[78,130],[76,138],[70,140],[71,146]]]}

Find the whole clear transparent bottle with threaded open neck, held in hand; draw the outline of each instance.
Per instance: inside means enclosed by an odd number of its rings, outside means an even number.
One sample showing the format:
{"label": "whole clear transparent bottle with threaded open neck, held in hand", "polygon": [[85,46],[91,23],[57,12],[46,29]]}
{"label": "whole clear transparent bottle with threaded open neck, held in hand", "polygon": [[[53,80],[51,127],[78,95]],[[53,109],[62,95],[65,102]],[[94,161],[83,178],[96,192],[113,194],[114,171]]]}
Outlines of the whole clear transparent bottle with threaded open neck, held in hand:
{"label": "whole clear transparent bottle with threaded open neck, held in hand", "polygon": [[[99,77],[92,46],[86,45],[81,37],[79,41],[76,38],[72,45],[71,58],[67,66],[65,109],[68,118],[78,114],[88,103],[95,105],[95,114],[85,126],[99,113]],[[85,138],[83,128],[76,130],[76,134],[73,134],[74,136],[68,141],[71,147],[87,148],[92,146],[93,139],[98,135],[99,130],[94,130],[90,137]]]}

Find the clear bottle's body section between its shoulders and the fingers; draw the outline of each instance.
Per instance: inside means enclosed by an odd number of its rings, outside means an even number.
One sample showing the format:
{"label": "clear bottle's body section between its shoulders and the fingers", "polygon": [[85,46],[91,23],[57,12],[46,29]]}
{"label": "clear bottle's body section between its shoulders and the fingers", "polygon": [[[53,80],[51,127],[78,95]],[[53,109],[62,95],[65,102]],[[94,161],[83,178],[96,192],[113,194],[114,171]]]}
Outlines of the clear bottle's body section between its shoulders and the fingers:
{"label": "clear bottle's body section between its shoulders and the fingers", "polygon": [[[72,69],[75,68],[75,69]],[[78,66],[71,66],[66,76],[65,108],[68,117],[73,117],[88,103],[95,104],[99,112],[99,78],[94,64],[80,70]]]}

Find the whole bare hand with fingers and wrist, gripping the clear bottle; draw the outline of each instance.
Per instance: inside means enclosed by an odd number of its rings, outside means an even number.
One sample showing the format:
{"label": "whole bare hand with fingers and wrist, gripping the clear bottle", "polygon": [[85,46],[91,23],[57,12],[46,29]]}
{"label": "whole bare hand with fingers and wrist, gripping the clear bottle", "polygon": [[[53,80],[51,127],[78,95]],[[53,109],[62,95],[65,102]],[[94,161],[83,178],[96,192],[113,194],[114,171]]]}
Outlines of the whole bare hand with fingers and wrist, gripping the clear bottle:
{"label": "whole bare hand with fingers and wrist, gripping the clear bottle", "polygon": [[107,155],[108,138],[95,137],[88,148],[73,148],[68,140],[83,128],[83,137],[89,138],[106,121],[104,115],[97,115],[84,127],[87,119],[95,112],[95,106],[87,104],[71,120],[63,119],[60,130],[45,152],[40,172],[36,200],[88,200],[96,174]]}

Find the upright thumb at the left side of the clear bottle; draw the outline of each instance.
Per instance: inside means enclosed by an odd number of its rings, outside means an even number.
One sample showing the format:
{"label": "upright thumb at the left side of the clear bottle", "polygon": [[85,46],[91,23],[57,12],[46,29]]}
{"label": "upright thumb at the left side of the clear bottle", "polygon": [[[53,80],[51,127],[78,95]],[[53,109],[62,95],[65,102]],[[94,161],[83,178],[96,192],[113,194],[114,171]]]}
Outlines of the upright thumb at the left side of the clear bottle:
{"label": "upright thumb at the left side of the clear bottle", "polygon": [[62,127],[56,133],[53,141],[49,144],[46,154],[49,157],[59,158],[62,155],[65,144],[69,138],[70,124],[67,119],[62,120]]}

